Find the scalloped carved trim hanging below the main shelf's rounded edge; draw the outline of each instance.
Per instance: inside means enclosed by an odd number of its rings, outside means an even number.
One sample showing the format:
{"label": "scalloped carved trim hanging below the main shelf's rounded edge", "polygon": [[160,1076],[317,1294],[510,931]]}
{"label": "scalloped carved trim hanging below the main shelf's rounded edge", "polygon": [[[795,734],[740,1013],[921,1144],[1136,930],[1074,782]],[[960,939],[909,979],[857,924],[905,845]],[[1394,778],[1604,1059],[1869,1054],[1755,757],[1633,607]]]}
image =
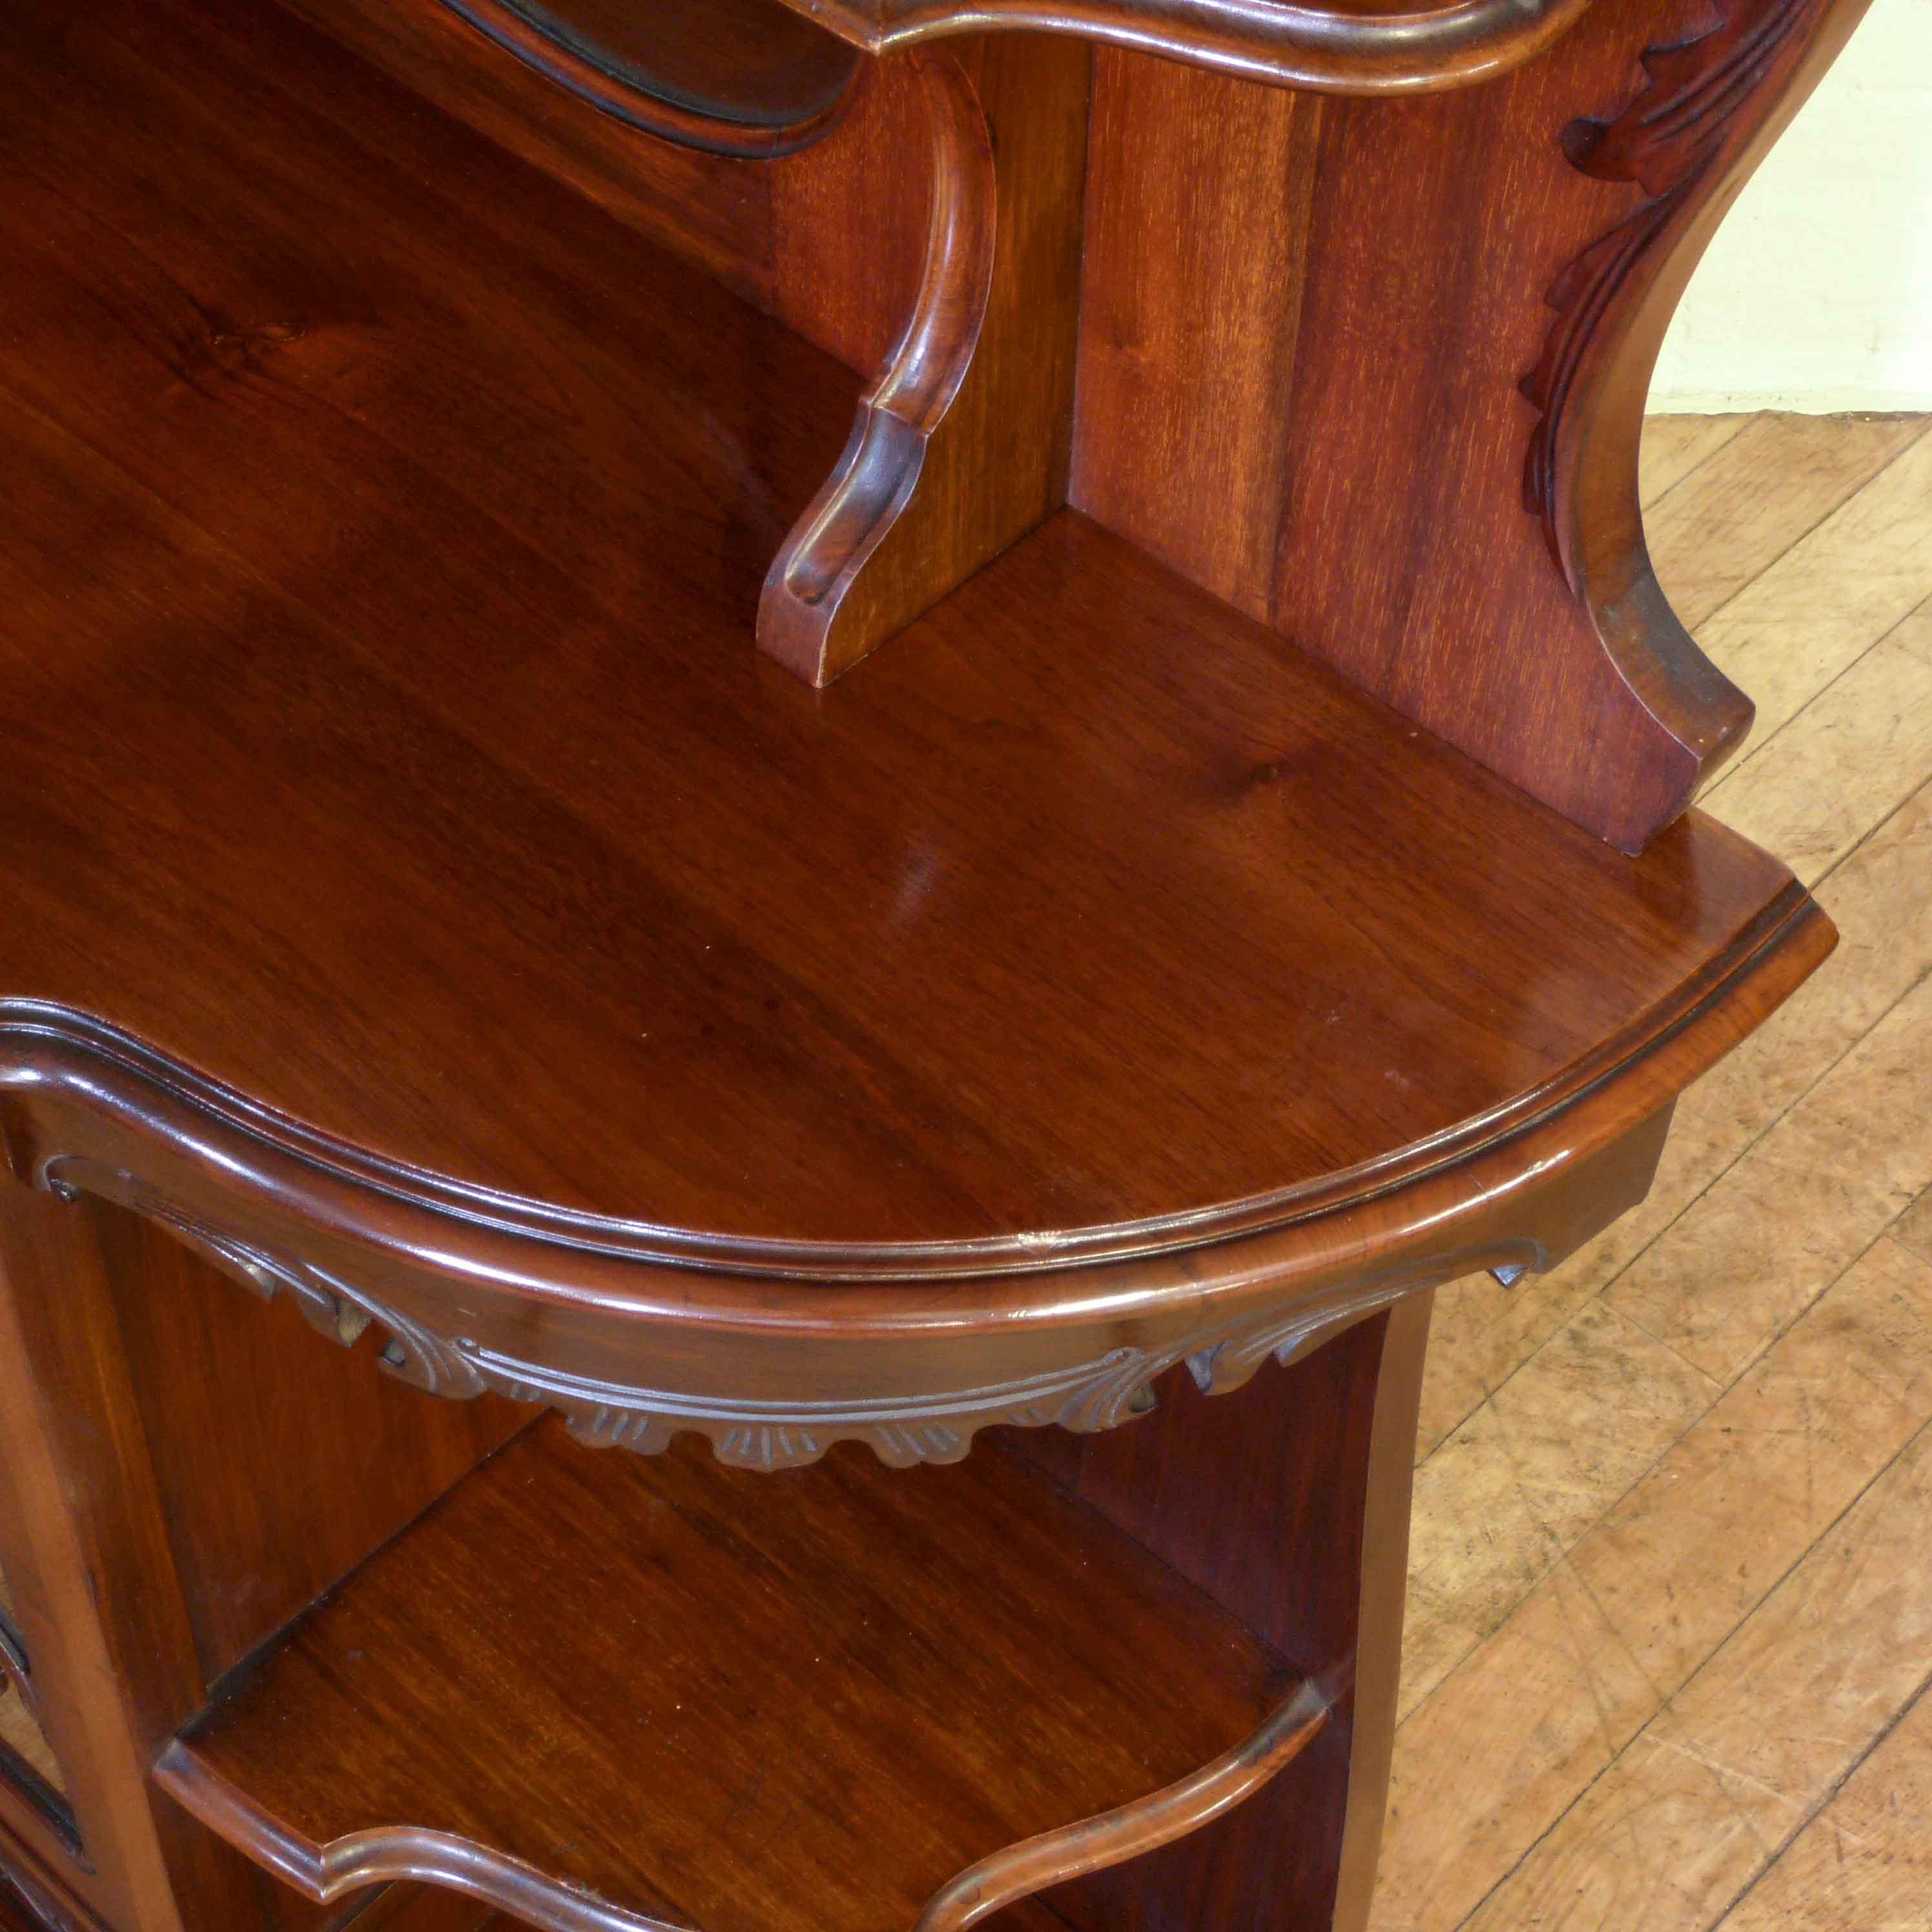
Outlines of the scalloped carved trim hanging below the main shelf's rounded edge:
{"label": "scalloped carved trim hanging below the main shelf's rounded edge", "polygon": [[1082,1435],[1119,1428],[1155,1406],[1151,1383],[1180,1362],[1204,1393],[1223,1395],[1248,1383],[1269,1356],[1285,1366],[1441,1273],[1432,1267],[1368,1281],[1345,1294],[1302,1302],[1293,1314],[1202,1327],[1159,1349],[1122,1347],[1092,1362],[985,1389],[875,1403],[711,1399],[597,1381],[502,1354],[469,1337],[440,1335],[340,1275],[211,1227],[135,1175],[56,1157],[43,1179],[62,1200],[93,1194],[166,1227],[263,1300],[286,1294],[309,1327],[338,1347],[350,1349],[367,1329],[381,1329],[384,1343],[377,1360],[384,1374],[412,1389],[450,1401],[489,1393],[554,1408],[572,1437],[591,1449],[657,1455],[676,1435],[697,1432],[711,1437],[721,1463],[752,1470],[804,1468],[838,1441],[864,1441],[881,1463],[910,1468],[962,1461],[985,1428],[1057,1424]]}

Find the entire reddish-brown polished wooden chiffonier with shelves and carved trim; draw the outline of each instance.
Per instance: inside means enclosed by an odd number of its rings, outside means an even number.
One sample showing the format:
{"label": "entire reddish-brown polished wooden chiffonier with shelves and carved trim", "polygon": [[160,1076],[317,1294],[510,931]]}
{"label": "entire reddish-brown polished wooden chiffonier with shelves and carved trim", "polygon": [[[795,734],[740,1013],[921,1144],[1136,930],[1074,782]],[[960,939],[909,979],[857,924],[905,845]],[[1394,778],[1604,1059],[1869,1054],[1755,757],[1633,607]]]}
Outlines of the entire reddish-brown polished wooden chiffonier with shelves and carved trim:
{"label": "entire reddish-brown polished wooden chiffonier with shelves and carved trim", "polygon": [[8,1932],[1360,1932],[1432,1289],[1832,947],[1636,439],[1857,12],[0,8]]}

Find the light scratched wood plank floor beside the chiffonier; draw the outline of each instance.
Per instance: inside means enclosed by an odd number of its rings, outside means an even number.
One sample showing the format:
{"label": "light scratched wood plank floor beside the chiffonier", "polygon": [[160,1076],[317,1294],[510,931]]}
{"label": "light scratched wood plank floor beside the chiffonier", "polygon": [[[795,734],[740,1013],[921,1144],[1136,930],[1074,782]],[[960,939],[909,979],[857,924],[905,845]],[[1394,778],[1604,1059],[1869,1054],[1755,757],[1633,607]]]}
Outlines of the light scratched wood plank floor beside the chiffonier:
{"label": "light scratched wood plank floor beside the chiffonier", "polygon": [[1441,1294],[1376,1932],[1932,1928],[1928,429],[1650,425],[1706,806],[1843,943],[1634,1217]]}

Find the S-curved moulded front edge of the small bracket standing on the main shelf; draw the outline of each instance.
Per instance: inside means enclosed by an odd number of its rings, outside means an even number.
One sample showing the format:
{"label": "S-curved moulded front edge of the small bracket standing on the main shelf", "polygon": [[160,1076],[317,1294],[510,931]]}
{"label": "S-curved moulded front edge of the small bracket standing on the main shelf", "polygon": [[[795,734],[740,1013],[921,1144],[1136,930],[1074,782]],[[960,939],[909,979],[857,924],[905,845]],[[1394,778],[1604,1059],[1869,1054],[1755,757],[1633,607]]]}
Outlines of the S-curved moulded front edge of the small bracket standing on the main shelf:
{"label": "S-curved moulded front edge of the small bracket standing on the main shelf", "polygon": [[852,437],[773,558],[757,643],[810,684],[829,684],[879,636],[840,632],[860,572],[906,514],[925,452],[972,369],[993,294],[997,180],[980,97],[951,54],[914,54],[931,131],[925,270],[904,334]]}

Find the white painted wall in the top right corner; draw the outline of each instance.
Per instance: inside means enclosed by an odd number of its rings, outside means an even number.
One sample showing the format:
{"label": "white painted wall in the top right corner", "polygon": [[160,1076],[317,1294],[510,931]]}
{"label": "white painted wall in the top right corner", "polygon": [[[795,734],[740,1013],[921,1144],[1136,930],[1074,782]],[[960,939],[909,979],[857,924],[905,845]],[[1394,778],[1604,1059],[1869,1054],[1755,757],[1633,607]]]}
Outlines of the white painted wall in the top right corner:
{"label": "white painted wall in the top right corner", "polygon": [[1872,0],[1718,230],[1650,408],[1932,410],[1932,0]]}

